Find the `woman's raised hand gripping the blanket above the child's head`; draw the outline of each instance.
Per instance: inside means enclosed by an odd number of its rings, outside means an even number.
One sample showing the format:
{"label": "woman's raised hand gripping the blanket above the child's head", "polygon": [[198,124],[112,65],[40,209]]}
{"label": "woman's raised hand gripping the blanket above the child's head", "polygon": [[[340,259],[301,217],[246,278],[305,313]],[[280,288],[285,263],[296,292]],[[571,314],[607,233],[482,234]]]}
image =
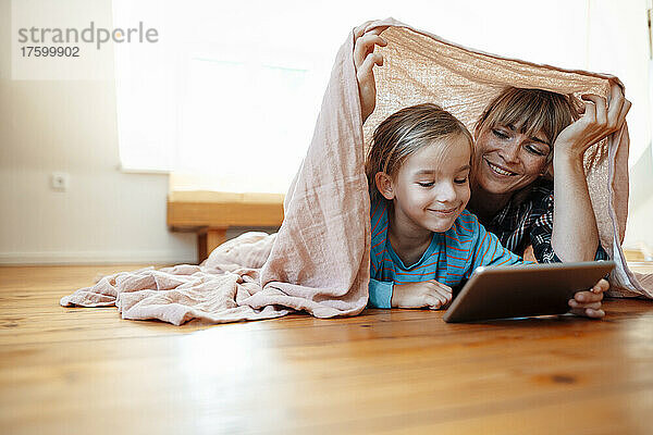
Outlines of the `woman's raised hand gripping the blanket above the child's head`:
{"label": "woman's raised hand gripping the blanket above the child's head", "polygon": [[356,67],[356,79],[358,80],[358,95],[360,97],[360,109],[362,122],[368,119],[377,105],[377,85],[374,82],[374,65],[383,65],[383,57],[374,53],[374,47],[385,47],[387,42],[381,36],[381,32],[387,26],[377,27],[365,32],[372,23],[368,21],[354,29],[354,66]]}

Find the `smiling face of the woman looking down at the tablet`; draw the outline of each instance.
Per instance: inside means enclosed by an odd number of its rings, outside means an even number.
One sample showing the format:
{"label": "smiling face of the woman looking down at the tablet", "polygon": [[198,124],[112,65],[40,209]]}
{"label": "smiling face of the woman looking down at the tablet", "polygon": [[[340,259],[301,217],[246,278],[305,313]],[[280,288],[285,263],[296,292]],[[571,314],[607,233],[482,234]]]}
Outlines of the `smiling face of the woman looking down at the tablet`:
{"label": "smiling face of the woman looking down at the tablet", "polygon": [[541,132],[529,137],[509,125],[486,128],[475,145],[473,181],[491,194],[515,192],[545,172],[551,150]]}

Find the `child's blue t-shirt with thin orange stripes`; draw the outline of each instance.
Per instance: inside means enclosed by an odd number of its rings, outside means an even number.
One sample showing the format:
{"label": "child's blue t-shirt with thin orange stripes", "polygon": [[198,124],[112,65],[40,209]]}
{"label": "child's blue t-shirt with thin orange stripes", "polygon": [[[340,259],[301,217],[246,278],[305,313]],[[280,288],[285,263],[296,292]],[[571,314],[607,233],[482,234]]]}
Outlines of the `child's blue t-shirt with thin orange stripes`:
{"label": "child's blue t-shirt with thin orange stripes", "polygon": [[386,201],[372,202],[368,307],[391,308],[395,285],[435,279],[455,287],[469,279],[478,266],[523,263],[494,234],[486,232],[475,214],[464,210],[446,233],[433,233],[431,245],[419,261],[404,264],[387,240],[389,211]]}

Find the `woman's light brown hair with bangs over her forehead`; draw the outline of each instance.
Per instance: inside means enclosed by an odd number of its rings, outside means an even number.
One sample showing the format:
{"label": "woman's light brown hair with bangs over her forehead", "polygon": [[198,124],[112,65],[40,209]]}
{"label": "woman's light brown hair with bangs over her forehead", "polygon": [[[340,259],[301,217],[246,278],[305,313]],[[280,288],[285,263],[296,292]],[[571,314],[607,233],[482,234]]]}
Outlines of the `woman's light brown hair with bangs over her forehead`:
{"label": "woman's light brown hair with bangs over her forehead", "polygon": [[[475,138],[478,140],[482,132],[504,125],[529,137],[542,132],[553,146],[560,132],[578,120],[579,108],[580,102],[570,95],[510,86],[488,104],[477,123]],[[546,162],[551,159],[553,151]]]}

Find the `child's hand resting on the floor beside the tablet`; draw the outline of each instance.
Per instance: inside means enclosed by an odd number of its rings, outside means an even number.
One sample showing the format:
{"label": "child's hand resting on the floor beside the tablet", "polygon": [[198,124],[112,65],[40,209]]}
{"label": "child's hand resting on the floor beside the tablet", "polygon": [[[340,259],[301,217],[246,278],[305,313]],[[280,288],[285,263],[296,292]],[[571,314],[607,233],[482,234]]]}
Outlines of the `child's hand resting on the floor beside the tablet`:
{"label": "child's hand resting on the floor beside the tablet", "polygon": [[436,310],[452,301],[452,288],[435,279],[394,285],[393,308],[423,308]]}

